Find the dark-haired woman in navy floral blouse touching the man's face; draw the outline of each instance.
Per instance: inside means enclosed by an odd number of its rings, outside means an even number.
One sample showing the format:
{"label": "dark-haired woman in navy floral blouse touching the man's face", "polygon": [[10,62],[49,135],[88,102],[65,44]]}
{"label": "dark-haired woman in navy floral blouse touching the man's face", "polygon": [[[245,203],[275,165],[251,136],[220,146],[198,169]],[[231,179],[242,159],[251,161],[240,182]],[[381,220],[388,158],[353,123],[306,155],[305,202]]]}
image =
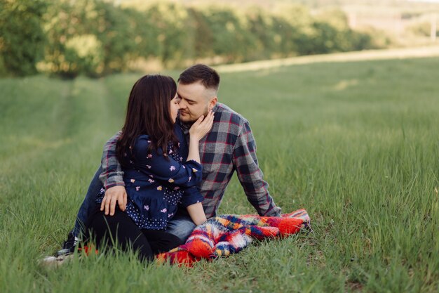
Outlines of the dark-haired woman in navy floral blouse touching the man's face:
{"label": "dark-haired woman in navy floral blouse touching the man's face", "polygon": [[[151,260],[154,254],[176,247],[178,237],[164,230],[179,202],[194,223],[206,221],[203,197],[196,188],[202,176],[198,141],[210,131],[213,113],[191,126],[187,152],[184,134],[175,124],[176,92],[174,80],[161,75],[146,75],[133,86],[116,145],[128,203],[126,211],[116,209],[114,216],[96,211],[90,219],[87,230],[98,248],[116,241],[123,249],[138,251],[140,259]],[[103,197],[102,191],[97,202]]]}

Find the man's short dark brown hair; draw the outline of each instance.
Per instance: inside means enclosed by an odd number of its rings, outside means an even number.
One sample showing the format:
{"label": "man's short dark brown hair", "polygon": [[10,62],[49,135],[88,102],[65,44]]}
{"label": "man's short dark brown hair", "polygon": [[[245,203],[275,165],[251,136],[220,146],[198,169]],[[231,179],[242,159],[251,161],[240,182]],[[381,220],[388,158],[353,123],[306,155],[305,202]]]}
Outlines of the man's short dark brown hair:
{"label": "man's short dark brown hair", "polygon": [[184,70],[178,77],[180,84],[194,84],[195,82],[201,82],[206,89],[218,90],[219,87],[219,74],[208,65],[196,64],[187,70]]}

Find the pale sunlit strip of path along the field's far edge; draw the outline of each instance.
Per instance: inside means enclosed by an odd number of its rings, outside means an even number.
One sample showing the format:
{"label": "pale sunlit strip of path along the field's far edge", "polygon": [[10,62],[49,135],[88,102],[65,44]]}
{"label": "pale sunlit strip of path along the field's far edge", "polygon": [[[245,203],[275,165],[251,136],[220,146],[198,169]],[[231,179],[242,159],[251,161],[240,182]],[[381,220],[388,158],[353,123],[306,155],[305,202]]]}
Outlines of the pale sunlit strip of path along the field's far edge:
{"label": "pale sunlit strip of path along the field's far edge", "polygon": [[276,60],[254,61],[249,63],[221,65],[215,67],[219,72],[240,72],[262,70],[279,66],[309,64],[319,62],[349,62],[360,60],[406,59],[439,56],[439,46],[416,48],[395,48],[385,50],[367,50],[324,55],[300,56]]}

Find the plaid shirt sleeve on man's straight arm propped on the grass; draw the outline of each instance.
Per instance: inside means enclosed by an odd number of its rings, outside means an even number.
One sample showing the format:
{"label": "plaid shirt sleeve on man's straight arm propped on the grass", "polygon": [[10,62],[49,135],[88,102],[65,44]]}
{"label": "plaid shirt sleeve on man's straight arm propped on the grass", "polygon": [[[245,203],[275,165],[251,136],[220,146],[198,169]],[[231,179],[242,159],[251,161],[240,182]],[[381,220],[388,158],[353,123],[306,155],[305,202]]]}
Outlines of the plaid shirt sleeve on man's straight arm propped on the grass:
{"label": "plaid shirt sleeve on man's straight arm propped on the grass", "polygon": [[273,202],[264,181],[264,174],[257,164],[256,142],[248,122],[241,125],[233,153],[236,174],[247,199],[260,216],[281,216],[281,208]]}

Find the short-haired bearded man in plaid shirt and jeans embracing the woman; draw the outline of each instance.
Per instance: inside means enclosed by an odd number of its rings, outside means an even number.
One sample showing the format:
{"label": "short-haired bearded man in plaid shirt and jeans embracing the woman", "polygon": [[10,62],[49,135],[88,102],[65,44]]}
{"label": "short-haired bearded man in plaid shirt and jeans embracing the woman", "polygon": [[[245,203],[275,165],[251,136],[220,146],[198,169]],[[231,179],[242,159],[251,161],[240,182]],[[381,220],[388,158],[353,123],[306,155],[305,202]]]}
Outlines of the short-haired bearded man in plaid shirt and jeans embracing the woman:
{"label": "short-haired bearded man in plaid shirt and jeans embracing the woman", "polygon": [[[203,181],[198,186],[203,195],[203,208],[209,219],[215,216],[231,176],[236,171],[247,199],[260,216],[280,216],[281,209],[273,202],[267,190],[256,157],[256,144],[250,125],[244,117],[227,105],[217,103],[219,75],[212,68],[198,64],[184,70],[178,79],[177,95],[180,98],[180,117],[177,123],[184,134],[198,117],[215,112],[212,130],[200,141],[200,157],[203,165]],[[114,214],[116,205],[122,211],[126,208],[126,191],[123,172],[116,159],[116,142],[119,134],[113,136],[104,146],[102,169],[98,169],[90,183],[86,199],[78,213],[74,230],[58,251],[58,255],[74,251],[81,233],[81,223],[86,223],[88,214],[95,209],[95,197],[100,188],[107,191],[101,204],[105,214]],[[102,173],[102,174],[101,174]],[[100,176],[99,176],[100,174]],[[100,183],[98,177],[103,183]],[[195,224],[184,209],[168,223],[167,232],[177,235],[184,243]]]}

